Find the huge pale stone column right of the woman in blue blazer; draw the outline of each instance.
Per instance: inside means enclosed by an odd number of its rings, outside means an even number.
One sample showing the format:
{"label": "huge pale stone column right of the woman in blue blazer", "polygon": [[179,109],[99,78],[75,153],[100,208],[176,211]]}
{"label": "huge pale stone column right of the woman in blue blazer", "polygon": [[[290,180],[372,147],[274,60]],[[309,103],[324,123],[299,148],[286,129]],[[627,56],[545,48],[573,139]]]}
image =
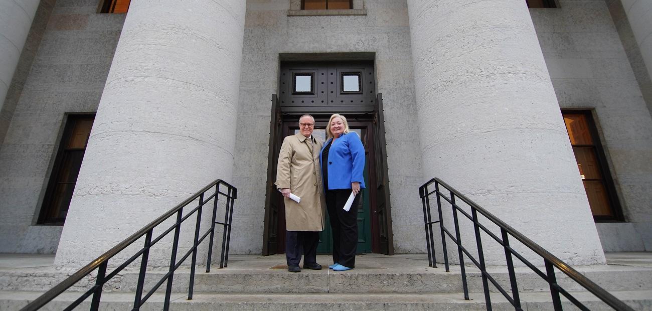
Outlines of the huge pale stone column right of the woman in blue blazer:
{"label": "huge pale stone column right of the woman in blue blazer", "polygon": [[[440,177],[568,263],[604,263],[526,2],[408,0],[408,12],[424,180]],[[488,264],[504,265],[483,240]]]}

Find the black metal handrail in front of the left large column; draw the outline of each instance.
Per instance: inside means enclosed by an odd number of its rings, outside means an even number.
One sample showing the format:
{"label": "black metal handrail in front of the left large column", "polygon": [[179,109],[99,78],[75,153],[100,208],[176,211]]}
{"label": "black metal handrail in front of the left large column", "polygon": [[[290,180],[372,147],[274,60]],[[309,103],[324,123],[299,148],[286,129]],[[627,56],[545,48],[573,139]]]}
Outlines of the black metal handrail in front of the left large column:
{"label": "black metal handrail in front of the left large column", "polygon": [[[220,191],[220,185],[226,187],[226,192]],[[206,192],[213,187],[215,187],[215,192],[210,194],[210,196],[208,196],[207,198],[204,198]],[[218,197],[220,195],[226,197],[226,209],[225,209],[226,211],[224,213],[224,222],[216,221]],[[195,201],[197,198],[199,198],[198,206],[192,209],[192,211],[190,211],[187,215],[183,216],[183,208],[186,205]],[[231,239],[231,219],[233,217],[233,201],[236,198],[237,198],[237,188],[229,185],[228,183],[222,181],[221,179],[217,179],[216,181],[213,181],[213,183],[210,183],[209,185],[205,186],[196,194],[190,196],[190,198],[181,202],[173,209],[170,209],[170,211],[168,211],[167,213],[156,218],[156,220],[150,222],[147,226],[143,227],[141,230],[138,230],[136,233],[132,234],[130,237],[126,238],[121,243],[113,246],[113,248],[111,248],[110,250],[102,254],[102,256],[94,259],[93,261],[91,261],[91,263],[89,263],[88,265],[86,265],[76,273],[72,274],[71,276],[68,276],[68,278],[66,278],[61,283],[54,286],[52,289],[50,289],[43,295],[40,295],[40,297],[38,297],[31,303],[27,304],[27,306],[25,306],[21,310],[38,310],[38,308],[41,308],[48,302],[52,301],[52,299],[54,299],[58,295],[61,295],[61,293],[63,293],[66,289],[70,288],[76,282],[82,280],[82,278],[91,274],[95,270],[98,271],[95,279],[95,286],[85,291],[85,293],[83,293],[81,297],[79,297],[76,301],[74,301],[64,310],[73,310],[76,306],[78,306],[83,301],[85,301],[85,299],[87,299],[90,295],[93,295],[93,300],[91,301],[90,309],[98,310],[100,304],[100,298],[102,296],[102,288],[104,284],[106,284],[108,280],[113,278],[113,276],[117,275],[120,271],[125,269],[125,267],[127,267],[130,263],[136,260],[136,258],[138,258],[139,256],[141,257],[140,273],[138,274],[138,284],[136,286],[136,294],[134,296],[134,308],[132,310],[140,310],[141,305],[145,303],[145,301],[147,301],[147,299],[151,297],[151,295],[156,291],[156,289],[158,289],[166,280],[168,283],[166,285],[163,310],[169,310],[174,271],[177,268],[179,268],[181,264],[191,254],[192,254],[192,262],[190,265],[190,286],[188,288],[188,300],[192,299],[195,266],[196,266],[196,259],[197,259],[197,248],[199,244],[203,242],[207,236],[210,235],[208,256],[206,261],[206,272],[208,273],[211,271],[211,256],[213,253],[213,236],[215,235],[215,224],[220,224],[224,226],[224,231],[222,235],[222,254],[220,256],[220,268],[228,266],[229,241]],[[208,203],[211,200],[213,200],[213,218],[211,221],[211,228],[200,237],[201,210],[203,205],[205,205],[205,203]],[[190,248],[190,250],[186,252],[185,256],[183,256],[183,258],[181,258],[181,260],[177,262],[177,249],[179,246],[179,233],[181,231],[181,223],[184,220],[188,219],[194,213],[197,213],[197,217],[196,217],[193,245]],[[172,226],[170,226],[170,228],[168,228],[167,230],[163,231],[163,233],[158,235],[158,237],[152,239],[153,231],[156,228],[156,226],[160,225],[162,222],[164,222],[165,220],[167,220],[168,218],[170,218],[172,215],[175,214],[177,215],[176,222]],[[171,248],[170,270],[168,271],[168,273],[166,273],[163,276],[163,278],[161,278],[160,281],[156,283],[156,285],[152,289],[150,289],[150,291],[145,295],[145,297],[143,297],[142,293],[143,293],[143,285],[145,283],[145,273],[147,273],[147,259],[149,258],[149,249],[158,241],[161,241],[161,239],[163,239],[163,237],[165,237],[171,231],[174,231],[174,239]],[[124,263],[121,263],[121,265],[119,265],[119,267],[111,271],[111,273],[106,274],[109,259],[113,258],[113,256],[115,256],[116,254],[118,254],[119,252],[121,252],[122,250],[130,246],[131,244],[135,243],[136,241],[138,241],[138,239],[140,239],[143,236],[145,237],[145,244],[143,248],[138,250],[138,252],[136,252],[134,256],[127,259]]]}

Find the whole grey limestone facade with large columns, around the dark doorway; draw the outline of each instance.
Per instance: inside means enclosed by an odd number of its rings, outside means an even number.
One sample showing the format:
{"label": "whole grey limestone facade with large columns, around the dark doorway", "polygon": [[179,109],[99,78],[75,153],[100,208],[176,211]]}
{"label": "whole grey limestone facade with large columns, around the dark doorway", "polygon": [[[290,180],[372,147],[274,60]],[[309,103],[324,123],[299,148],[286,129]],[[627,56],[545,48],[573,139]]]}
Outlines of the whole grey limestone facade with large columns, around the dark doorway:
{"label": "whole grey limestone facade with large columns, around the dark doorway", "polygon": [[[125,14],[97,14],[98,0],[58,0],[42,16],[46,27],[26,43],[38,42],[33,63],[18,63],[28,66],[29,74],[0,149],[0,252],[53,253],[59,247],[59,263],[79,264],[70,259],[80,245],[74,233],[89,235],[83,243],[101,240],[83,254],[87,261],[222,178],[239,189],[231,252],[259,254],[271,95],[278,92],[282,57],[310,53],[340,59],[374,55],[376,91],[384,98],[396,252],[425,251],[417,188],[435,176],[572,263],[600,263],[602,248],[652,249],[652,118],[635,75],[641,64],[628,58],[609,1],[559,0],[559,8],[528,11],[520,0],[484,4],[489,7],[478,1],[468,7],[464,1],[366,0],[354,1],[358,7],[351,15],[297,14],[292,10],[297,1],[290,0],[249,0],[246,8],[237,4],[244,1],[227,1],[230,6],[222,8],[211,7],[213,1],[194,2],[196,6],[175,10],[134,1],[125,20]],[[424,24],[419,21],[426,16],[419,6],[428,3],[442,6],[425,21],[439,26],[420,30]],[[496,22],[488,10],[505,15]],[[243,27],[237,26],[239,12]],[[471,27],[471,21],[482,27]],[[37,23],[43,21],[35,19],[33,31]],[[450,37],[445,26],[459,27],[459,37]],[[479,30],[482,35],[473,33]],[[473,38],[479,41],[460,43]],[[469,53],[476,43],[492,38],[507,40],[511,45],[503,47],[509,50],[497,45]],[[422,53],[430,58],[420,58]],[[483,59],[484,67],[473,65]],[[161,63],[173,66],[156,67]],[[437,81],[445,76],[452,78]],[[509,83],[497,83],[497,77]],[[432,89],[432,83],[446,87]],[[211,105],[220,111],[211,111]],[[593,226],[582,184],[574,178],[578,174],[559,113],[564,108],[592,110],[625,222]],[[437,109],[449,116],[439,119],[445,114]],[[41,226],[37,216],[65,113],[95,111],[61,235],[61,226]],[[203,113],[192,114],[198,111]],[[474,111],[469,115],[479,126],[466,121],[467,111]],[[509,119],[514,116],[518,120]],[[500,132],[502,127],[507,129]],[[216,136],[216,130],[222,134]],[[454,130],[452,136],[470,134],[451,141],[447,130]],[[131,136],[134,132],[149,134]],[[496,143],[498,138],[505,143]],[[518,146],[515,162],[501,156]],[[173,150],[181,153],[173,155]],[[211,155],[190,156],[195,153]],[[527,177],[528,155],[541,175]],[[178,166],[180,158],[190,159],[188,166]],[[205,167],[206,159],[220,165]],[[460,167],[464,170],[456,170]],[[181,173],[192,176],[171,176]],[[132,176],[129,185],[121,176]],[[520,188],[510,188],[513,184]],[[524,206],[526,198],[535,198],[536,206]],[[91,216],[117,213],[89,209],[94,202],[120,202],[121,211],[136,202],[149,207],[125,215],[134,221],[115,230],[110,223],[90,224]],[[533,210],[546,219],[541,228],[531,226],[537,223],[529,218]],[[572,224],[559,234],[576,239],[558,243],[544,234],[549,233],[542,229],[544,222]],[[97,226],[102,237],[92,236],[91,227]],[[572,252],[579,244],[578,252]]]}

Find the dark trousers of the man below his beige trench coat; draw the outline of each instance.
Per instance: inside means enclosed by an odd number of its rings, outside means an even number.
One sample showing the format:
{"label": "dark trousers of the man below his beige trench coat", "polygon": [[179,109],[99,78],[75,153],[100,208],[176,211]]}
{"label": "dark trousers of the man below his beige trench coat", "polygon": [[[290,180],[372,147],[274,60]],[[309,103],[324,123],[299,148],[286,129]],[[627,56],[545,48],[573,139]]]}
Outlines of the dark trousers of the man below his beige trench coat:
{"label": "dark trousers of the man below his beige trench coat", "polygon": [[303,263],[317,262],[319,231],[286,231],[286,259],[288,265],[299,265],[301,254]]}

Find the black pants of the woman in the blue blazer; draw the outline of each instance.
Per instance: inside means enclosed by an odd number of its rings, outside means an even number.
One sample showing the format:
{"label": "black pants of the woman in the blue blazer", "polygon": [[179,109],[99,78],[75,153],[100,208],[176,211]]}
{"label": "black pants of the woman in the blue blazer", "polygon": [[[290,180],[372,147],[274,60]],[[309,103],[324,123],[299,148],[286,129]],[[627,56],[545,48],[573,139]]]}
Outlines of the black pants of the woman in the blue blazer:
{"label": "black pants of the woman in the blue blazer", "polygon": [[355,252],[358,250],[358,201],[361,194],[355,196],[351,209],[344,211],[344,204],[350,195],[350,189],[327,190],[326,208],[333,228],[333,262],[354,268]]}

